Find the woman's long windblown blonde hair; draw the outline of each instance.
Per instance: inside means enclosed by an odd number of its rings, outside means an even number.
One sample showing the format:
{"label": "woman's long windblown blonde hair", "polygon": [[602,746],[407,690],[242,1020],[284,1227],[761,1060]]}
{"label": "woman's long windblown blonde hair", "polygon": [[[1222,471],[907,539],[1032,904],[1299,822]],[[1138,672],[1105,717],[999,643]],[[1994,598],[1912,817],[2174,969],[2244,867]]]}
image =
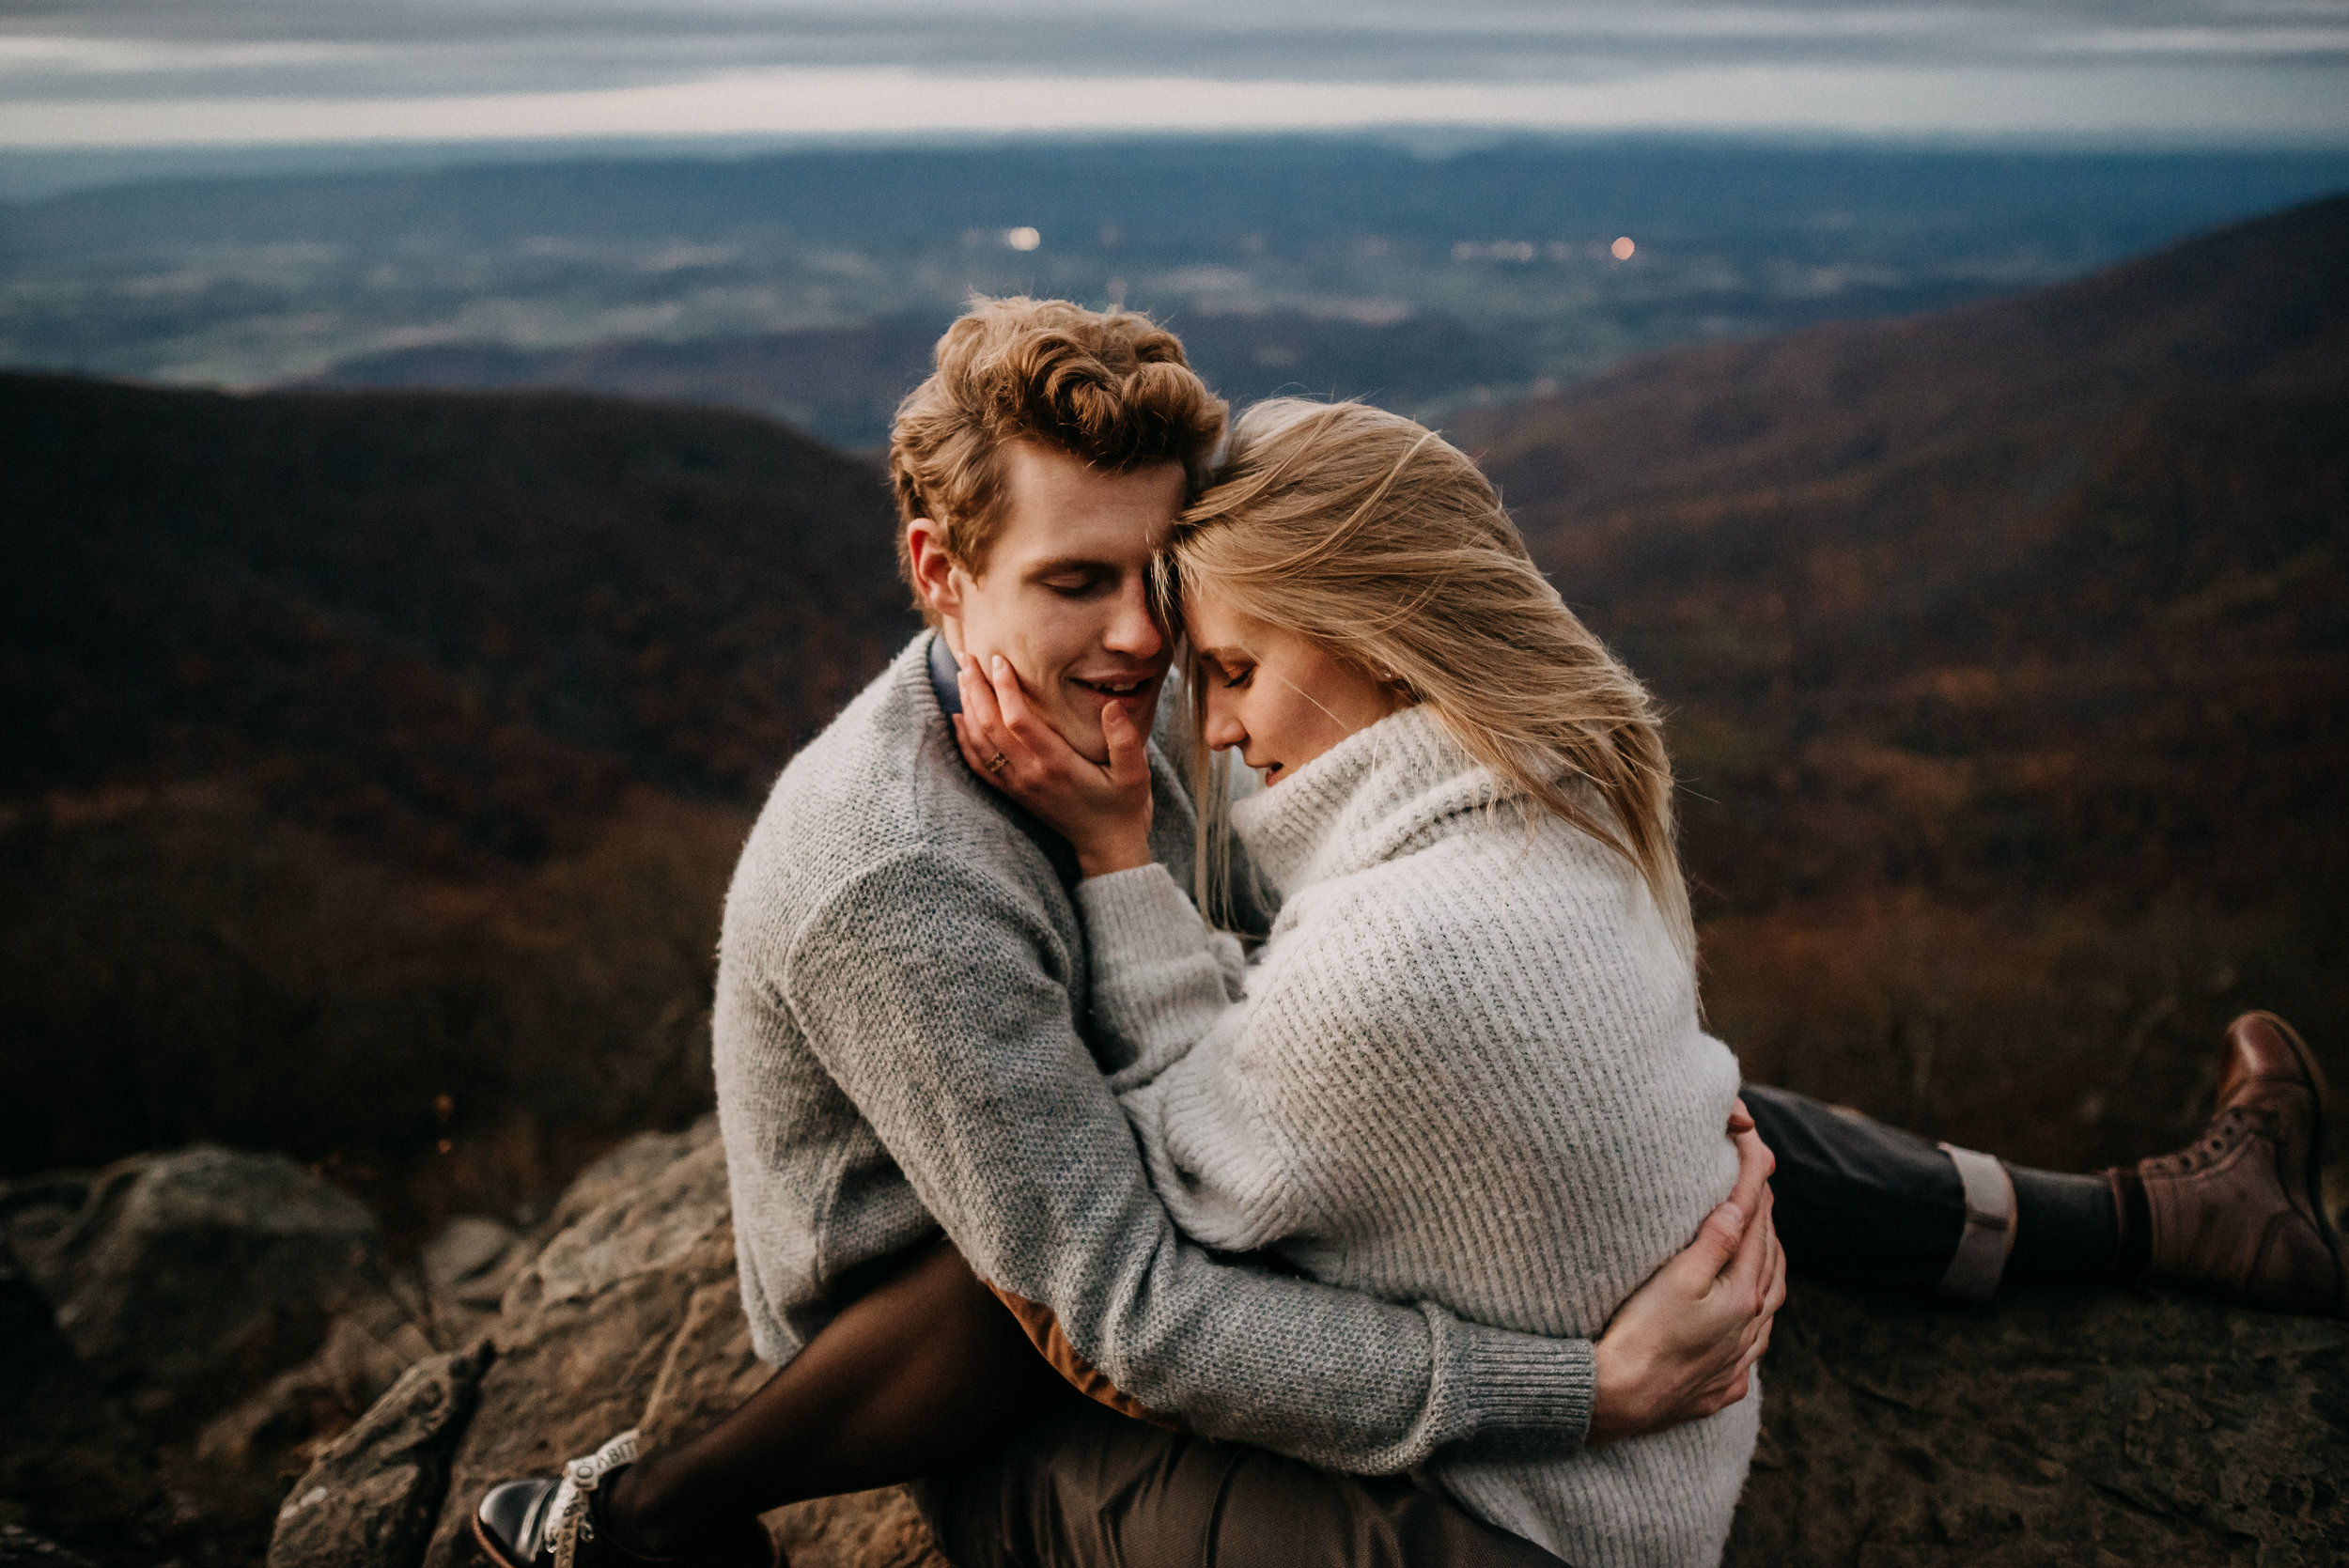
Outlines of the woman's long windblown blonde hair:
{"label": "woman's long windblown blonde hair", "polygon": [[[1426,704],[1492,770],[1492,805],[1562,817],[1630,861],[1694,958],[1656,702],[1456,446],[1367,404],[1252,406],[1158,559],[1170,615],[1203,592]],[[1198,897],[1229,915],[1229,753],[1205,746],[1205,685],[1193,669]]]}

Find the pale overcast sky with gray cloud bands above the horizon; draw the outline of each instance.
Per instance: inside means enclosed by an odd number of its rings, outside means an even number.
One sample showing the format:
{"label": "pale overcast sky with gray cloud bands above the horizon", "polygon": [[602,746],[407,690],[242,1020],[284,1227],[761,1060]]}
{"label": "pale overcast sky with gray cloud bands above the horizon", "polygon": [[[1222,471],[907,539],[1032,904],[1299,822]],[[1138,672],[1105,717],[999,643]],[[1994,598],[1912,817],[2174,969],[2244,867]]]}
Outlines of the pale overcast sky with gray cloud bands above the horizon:
{"label": "pale overcast sky with gray cloud bands above the horizon", "polygon": [[2349,146],[2349,0],[0,0],[0,148],[1379,124]]}

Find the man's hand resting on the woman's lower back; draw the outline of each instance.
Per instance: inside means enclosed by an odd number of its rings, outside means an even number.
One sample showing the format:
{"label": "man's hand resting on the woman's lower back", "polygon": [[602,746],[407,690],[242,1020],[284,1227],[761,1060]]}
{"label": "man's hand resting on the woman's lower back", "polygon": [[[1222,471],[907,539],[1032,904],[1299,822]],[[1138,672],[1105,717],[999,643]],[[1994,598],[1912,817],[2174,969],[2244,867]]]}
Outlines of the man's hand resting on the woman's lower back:
{"label": "man's hand resting on the woman's lower back", "polygon": [[1771,1223],[1776,1160],[1745,1101],[1729,1115],[1738,1183],[1687,1251],[1616,1307],[1597,1343],[1590,1444],[1647,1437],[1734,1406],[1752,1387],[1785,1300],[1785,1253]]}

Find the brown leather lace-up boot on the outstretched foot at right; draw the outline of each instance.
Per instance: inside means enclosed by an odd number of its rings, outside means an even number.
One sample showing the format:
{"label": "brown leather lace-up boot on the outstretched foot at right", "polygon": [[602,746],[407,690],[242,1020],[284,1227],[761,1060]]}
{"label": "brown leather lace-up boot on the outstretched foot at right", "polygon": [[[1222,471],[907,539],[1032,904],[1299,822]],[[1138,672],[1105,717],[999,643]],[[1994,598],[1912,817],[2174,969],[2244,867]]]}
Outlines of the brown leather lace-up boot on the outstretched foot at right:
{"label": "brown leather lace-up boot on the outstretched foot at right", "polygon": [[2201,1141],[2109,1171],[2142,1279],[2281,1312],[2349,1310],[2349,1265],[2321,1195],[2323,1106],[2326,1077],[2290,1023],[2271,1012],[2229,1023]]}

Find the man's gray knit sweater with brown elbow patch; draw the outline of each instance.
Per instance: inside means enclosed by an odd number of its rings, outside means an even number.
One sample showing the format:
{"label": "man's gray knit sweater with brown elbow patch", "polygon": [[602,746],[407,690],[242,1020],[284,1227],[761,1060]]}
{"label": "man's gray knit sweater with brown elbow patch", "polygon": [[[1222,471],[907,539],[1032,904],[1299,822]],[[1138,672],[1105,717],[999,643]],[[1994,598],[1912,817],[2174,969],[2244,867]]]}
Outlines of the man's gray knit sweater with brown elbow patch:
{"label": "man's gray knit sweater with brown elbow patch", "polygon": [[[1468,1439],[1571,1451],[1588,1338],[1466,1322],[1219,1258],[1151,1190],[1078,1033],[1085,937],[1015,807],[963,765],[923,634],[801,751],[719,946],[719,1127],[752,1343],[787,1361],[876,1265],[944,1228],[1116,1390],[1351,1472]],[[1153,847],[1191,805],[1153,746]]]}

